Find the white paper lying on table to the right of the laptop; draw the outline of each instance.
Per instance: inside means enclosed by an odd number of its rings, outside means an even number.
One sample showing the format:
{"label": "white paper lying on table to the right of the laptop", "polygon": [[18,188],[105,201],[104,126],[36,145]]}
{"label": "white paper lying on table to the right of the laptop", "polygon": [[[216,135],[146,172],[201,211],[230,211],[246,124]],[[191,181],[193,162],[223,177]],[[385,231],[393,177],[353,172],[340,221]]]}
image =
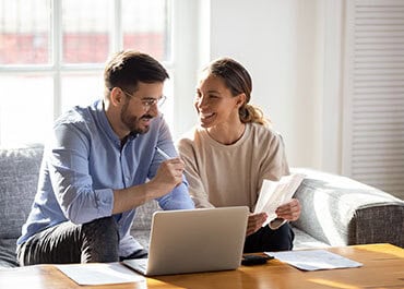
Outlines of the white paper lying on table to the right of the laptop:
{"label": "white paper lying on table to the right of the laptop", "polygon": [[359,262],[352,261],[326,250],[265,252],[265,254],[274,256],[302,270],[354,268],[363,266]]}

